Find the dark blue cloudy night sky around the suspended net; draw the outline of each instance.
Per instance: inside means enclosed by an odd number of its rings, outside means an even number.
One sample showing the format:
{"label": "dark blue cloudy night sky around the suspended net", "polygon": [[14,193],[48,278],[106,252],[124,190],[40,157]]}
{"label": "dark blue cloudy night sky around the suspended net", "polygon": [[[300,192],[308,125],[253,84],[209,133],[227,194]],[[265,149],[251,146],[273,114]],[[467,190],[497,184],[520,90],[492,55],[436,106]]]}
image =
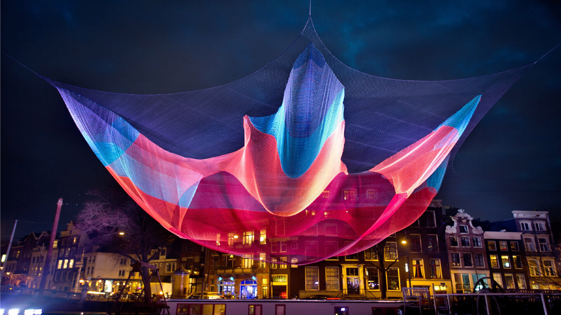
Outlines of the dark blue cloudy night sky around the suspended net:
{"label": "dark blue cloudy night sky around the suspended net", "polygon": [[[559,1],[312,1],[326,47],[371,75],[450,80],[509,70],[561,42]],[[0,2],[1,50],[89,89],[164,94],[264,66],[304,27],[307,1]],[[1,235],[59,230],[86,192],[114,187],[54,87],[1,56]],[[514,84],[459,150],[439,195],[482,219],[561,207],[561,47]]]}

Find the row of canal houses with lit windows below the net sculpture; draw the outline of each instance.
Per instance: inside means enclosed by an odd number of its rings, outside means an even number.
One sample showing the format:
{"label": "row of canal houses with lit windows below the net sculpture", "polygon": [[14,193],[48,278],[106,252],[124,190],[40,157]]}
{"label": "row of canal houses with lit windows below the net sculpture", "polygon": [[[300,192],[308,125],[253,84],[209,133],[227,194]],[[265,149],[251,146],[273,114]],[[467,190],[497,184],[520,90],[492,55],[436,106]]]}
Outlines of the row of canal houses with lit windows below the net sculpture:
{"label": "row of canal houses with lit windows below the net sculpture", "polygon": [[[547,211],[512,211],[512,219],[489,223],[441,203],[434,200],[413,224],[372,248],[309,265],[291,265],[284,257],[267,263],[233,256],[183,239],[171,240],[150,263],[158,266],[164,291],[176,298],[208,291],[235,298],[397,299],[403,287],[468,293],[478,289],[478,281],[508,290],[561,289],[559,248]],[[13,246],[2,284],[38,288],[49,238],[48,232],[31,233]],[[72,223],[61,232],[49,289],[77,289],[80,280],[100,293],[125,285],[130,260],[102,248],[86,251],[86,238]],[[278,242],[282,248],[282,242],[295,241]],[[140,288],[135,277],[126,289]]]}

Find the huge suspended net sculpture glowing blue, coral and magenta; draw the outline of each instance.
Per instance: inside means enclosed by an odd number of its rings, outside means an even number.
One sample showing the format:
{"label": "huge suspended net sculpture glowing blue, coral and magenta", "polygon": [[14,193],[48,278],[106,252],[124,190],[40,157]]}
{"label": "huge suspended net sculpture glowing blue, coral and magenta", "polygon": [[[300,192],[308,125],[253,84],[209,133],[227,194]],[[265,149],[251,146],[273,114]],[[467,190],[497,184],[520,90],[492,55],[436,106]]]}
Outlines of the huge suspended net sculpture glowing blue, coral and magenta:
{"label": "huge suspended net sculpture glowing blue, coral and magenta", "polygon": [[45,80],[169,231],[302,265],[417,220],[468,133],[532,64],[450,81],[370,76],[330,54],[310,19],[274,61],[211,89],[131,95]]}

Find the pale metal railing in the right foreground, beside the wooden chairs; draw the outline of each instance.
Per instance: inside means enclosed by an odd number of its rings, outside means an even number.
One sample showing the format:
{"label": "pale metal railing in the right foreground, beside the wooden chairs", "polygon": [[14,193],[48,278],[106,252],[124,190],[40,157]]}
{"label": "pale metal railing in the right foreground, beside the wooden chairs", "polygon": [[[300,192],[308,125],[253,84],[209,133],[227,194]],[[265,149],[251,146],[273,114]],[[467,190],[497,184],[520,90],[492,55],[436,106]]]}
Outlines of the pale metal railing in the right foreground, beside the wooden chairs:
{"label": "pale metal railing in the right foreground, beside the wooden chairs", "polygon": [[463,293],[434,297],[437,314],[439,311],[458,315],[561,313],[561,293]]}

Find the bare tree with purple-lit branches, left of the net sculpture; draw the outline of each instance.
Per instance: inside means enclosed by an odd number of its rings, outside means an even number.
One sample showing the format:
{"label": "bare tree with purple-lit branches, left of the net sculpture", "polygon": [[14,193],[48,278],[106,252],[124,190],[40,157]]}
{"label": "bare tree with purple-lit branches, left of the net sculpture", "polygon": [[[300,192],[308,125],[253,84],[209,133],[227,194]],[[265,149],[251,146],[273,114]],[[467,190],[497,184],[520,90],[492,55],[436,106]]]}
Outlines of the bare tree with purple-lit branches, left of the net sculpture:
{"label": "bare tree with purple-lit branches, left of the net sculpture", "polygon": [[[86,246],[90,249],[104,248],[133,262],[150,262],[159,258],[160,251],[175,238],[124,192],[89,194],[92,198],[84,203],[76,226],[88,235]],[[148,280],[148,268],[143,268],[142,274]],[[144,286],[149,298],[150,282]]]}

